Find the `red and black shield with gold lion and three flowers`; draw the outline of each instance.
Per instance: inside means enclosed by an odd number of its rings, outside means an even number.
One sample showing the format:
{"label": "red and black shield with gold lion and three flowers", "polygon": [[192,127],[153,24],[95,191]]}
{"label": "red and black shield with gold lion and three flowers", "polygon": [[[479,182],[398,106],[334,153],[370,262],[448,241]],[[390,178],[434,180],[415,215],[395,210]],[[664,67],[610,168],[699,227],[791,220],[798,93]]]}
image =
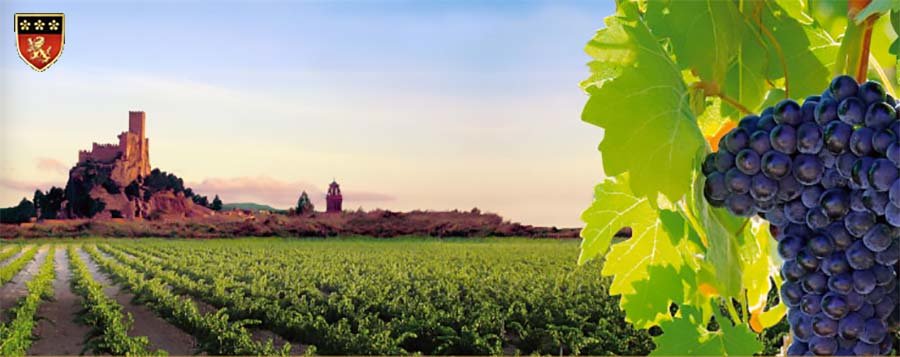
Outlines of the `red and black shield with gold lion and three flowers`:
{"label": "red and black shield with gold lion and three flowers", "polygon": [[16,14],[16,47],[19,57],[35,71],[43,72],[62,54],[65,44],[63,14]]}

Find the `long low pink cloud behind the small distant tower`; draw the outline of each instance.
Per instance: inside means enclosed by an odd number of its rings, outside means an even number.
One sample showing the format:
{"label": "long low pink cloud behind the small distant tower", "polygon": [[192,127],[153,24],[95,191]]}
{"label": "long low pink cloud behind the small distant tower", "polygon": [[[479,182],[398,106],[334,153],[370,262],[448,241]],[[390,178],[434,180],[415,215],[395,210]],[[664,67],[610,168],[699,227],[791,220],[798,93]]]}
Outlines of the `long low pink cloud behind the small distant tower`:
{"label": "long low pink cloud behind the small distant tower", "polygon": [[[219,195],[225,203],[255,202],[268,204],[275,208],[292,207],[297,204],[300,193],[306,191],[313,203],[324,205],[325,191],[318,186],[303,181],[287,182],[268,176],[208,178],[199,183],[188,183],[194,192],[206,196]],[[369,191],[344,191],[344,201],[358,203],[377,203],[392,201],[395,198],[388,194]]]}

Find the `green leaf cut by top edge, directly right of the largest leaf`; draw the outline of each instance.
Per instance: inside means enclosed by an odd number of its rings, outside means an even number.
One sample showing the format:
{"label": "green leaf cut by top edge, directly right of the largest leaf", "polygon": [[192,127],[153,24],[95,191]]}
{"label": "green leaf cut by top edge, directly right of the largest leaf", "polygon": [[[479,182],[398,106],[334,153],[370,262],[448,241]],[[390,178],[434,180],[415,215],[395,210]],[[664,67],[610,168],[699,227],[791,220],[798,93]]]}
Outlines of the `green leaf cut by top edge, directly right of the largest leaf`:
{"label": "green leaf cut by top edge, directly right of the largest leaf", "polygon": [[741,39],[742,19],[733,1],[653,1],[647,25],[671,40],[677,63],[700,78],[722,82]]}

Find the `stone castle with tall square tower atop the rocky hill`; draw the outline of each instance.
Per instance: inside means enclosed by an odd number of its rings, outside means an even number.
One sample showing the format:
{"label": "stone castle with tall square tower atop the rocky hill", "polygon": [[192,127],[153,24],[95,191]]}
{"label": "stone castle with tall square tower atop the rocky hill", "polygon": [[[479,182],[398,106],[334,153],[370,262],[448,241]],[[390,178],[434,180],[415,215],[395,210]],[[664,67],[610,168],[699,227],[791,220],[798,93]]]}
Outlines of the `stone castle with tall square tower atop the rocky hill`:
{"label": "stone castle with tall square tower atop the rocky hill", "polygon": [[150,174],[150,139],[146,138],[144,112],[128,112],[128,131],[119,134],[118,144],[94,143],[91,150],[78,152],[78,163],[116,163],[111,178],[121,186]]}

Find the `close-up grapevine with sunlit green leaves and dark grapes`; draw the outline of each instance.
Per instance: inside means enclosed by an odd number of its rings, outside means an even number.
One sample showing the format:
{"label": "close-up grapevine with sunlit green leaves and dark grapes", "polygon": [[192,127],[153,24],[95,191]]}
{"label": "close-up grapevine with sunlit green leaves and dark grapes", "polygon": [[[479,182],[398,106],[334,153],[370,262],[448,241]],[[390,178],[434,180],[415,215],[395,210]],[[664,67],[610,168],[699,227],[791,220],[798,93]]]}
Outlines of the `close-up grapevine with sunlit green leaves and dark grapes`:
{"label": "close-up grapevine with sunlit green leaves and dark grapes", "polygon": [[[788,353],[892,348],[900,4],[851,1],[834,26],[816,3],[618,1],[586,47],[608,178],[579,262],[604,257],[627,320],[662,331],[654,354],[758,353],[785,316]],[[871,333],[838,336],[831,285],[873,309]]]}

